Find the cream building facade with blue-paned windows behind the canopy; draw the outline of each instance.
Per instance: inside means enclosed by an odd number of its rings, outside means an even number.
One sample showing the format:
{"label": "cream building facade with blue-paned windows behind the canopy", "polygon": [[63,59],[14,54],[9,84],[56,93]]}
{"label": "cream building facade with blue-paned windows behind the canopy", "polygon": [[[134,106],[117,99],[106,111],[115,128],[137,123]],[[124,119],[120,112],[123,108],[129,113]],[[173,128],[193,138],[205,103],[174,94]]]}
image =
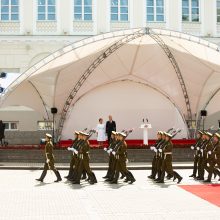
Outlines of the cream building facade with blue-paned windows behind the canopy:
{"label": "cream building facade with blue-paned windows behind the canopy", "polygon": [[[23,73],[75,41],[139,27],[186,32],[220,45],[220,0],[0,0],[0,72]],[[36,118],[35,125],[23,126],[22,114]],[[14,130],[42,130],[44,119],[34,114],[20,109],[16,119],[2,109],[0,119],[8,130],[13,123]]]}

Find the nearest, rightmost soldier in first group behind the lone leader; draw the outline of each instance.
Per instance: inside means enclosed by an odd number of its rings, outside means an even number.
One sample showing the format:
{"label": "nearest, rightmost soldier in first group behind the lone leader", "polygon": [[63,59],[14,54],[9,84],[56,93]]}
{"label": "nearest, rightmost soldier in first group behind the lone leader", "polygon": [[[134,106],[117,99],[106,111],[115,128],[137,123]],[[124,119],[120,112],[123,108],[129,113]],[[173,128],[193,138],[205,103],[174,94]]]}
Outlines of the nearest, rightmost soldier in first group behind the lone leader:
{"label": "nearest, rightmost soldier in first group behind the lone leader", "polygon": [[97,183],[97,179],[95,174],[92,172],[90,166],[89,166],[89,134],[81,132],[83,142],[80,144],[78,151],[76,152],[78,154],[78,164],[76,167],[76,175],[73,181],[73,184],[80,184],[80,179],[82,176],[82,172],[85,169],[89,179],[90,184]]}

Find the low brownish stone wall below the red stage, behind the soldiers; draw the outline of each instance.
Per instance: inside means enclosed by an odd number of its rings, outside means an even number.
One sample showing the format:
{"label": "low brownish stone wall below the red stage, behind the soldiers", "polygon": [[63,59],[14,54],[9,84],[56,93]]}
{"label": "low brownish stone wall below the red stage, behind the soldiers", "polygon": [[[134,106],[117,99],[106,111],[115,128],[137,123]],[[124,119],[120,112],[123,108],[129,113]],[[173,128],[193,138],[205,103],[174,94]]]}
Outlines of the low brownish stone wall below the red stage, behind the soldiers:
{"label": "low brownish stone wall below the red stage, behind the soldiers", "polygon": [[[57,163],[69,163],[71,152],[66,149],[54,150],[55,161]],[[130,162],[151,162],[153,152],[149,149],[128,149],[128,159]],[[108,162],[108,154],[102,149],[90,150],[90,161],[92,163]],[[189,148],[176,148],[173,151],[173,161],[187,162],[193,161],[193,151]],[[23,162],[39,163],[44,162],[44,150],[0,150],[1,162]]]}

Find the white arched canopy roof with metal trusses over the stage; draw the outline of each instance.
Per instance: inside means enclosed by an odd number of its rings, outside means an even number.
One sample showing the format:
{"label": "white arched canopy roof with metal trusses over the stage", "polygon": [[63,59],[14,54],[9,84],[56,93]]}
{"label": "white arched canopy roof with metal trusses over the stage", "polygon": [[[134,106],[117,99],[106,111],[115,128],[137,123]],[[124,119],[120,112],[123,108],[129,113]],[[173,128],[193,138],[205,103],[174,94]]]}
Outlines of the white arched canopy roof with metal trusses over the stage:
{"label": "white arched canopy roof with metal trusses over the stage", "polygon": [[63,131],[77,102],[100,86],[124,80],[145,84],[168,98],[183,123],[201,109],[220,110],[215,105],[220,96],[218,46],[148,28],[98,35],[62,48],[16,79],[5,90],[1,106],[27,106],[44,118],[51,118],[50,108],[56,107],[58,130],[67,138]]}

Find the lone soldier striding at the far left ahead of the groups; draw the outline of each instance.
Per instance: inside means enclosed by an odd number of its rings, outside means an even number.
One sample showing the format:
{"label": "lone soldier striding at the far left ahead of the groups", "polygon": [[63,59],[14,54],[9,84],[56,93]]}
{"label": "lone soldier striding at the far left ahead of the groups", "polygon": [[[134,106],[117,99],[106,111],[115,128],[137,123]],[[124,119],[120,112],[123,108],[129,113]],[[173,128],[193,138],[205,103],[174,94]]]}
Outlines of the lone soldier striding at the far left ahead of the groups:
{"label": "lone soldier striding at the far left ahead of the groups", "polygon": [[46,145],[45,145],[46,162],[44,164],[44,169],[40,178],[36,179],[37,181],[40,182],[43,182],[47,174],[47,170],[53,170],[53,172],[55,173],[57,179],[54,182],[59,182],[62,180],[59,171],[54,166],[53,143],[51,140],[52,140],[52,135],[46,134]]}

